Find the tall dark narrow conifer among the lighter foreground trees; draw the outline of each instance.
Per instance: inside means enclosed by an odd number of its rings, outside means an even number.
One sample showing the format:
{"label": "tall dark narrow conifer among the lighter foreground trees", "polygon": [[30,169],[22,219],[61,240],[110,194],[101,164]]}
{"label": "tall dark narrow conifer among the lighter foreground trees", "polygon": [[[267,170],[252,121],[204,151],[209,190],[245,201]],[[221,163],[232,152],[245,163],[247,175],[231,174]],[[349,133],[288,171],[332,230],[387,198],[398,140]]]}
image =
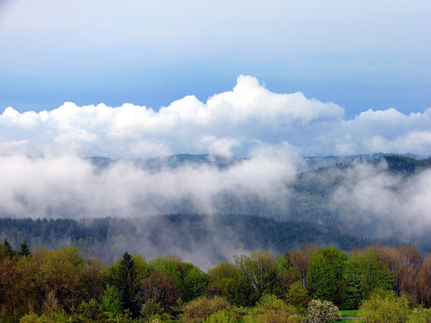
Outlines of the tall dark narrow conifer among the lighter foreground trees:
{"label": "tall dark narrow conifer among the lighter foreground trees", "polygon": [[123,258],[119,261],[117,275],[116,285],[121,293],[123,306],[134,313],[136,312],[134,306],[134,298],[136,296],[136,286],[134,281],[136,272],[134,260],[128,252],[125,252]]}

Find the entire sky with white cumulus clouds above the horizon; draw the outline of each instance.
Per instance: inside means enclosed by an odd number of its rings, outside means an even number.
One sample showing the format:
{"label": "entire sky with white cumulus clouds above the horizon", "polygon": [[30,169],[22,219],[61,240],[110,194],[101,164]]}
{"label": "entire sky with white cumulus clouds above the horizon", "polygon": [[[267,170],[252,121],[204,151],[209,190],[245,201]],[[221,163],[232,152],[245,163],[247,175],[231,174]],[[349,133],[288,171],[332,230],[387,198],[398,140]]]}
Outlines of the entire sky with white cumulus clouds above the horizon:
{"label": "entire sky with white cumulus clouds above the horizon", "polygon": [[431,154],[430,12],[429,1],[3,1],[0,152]]}

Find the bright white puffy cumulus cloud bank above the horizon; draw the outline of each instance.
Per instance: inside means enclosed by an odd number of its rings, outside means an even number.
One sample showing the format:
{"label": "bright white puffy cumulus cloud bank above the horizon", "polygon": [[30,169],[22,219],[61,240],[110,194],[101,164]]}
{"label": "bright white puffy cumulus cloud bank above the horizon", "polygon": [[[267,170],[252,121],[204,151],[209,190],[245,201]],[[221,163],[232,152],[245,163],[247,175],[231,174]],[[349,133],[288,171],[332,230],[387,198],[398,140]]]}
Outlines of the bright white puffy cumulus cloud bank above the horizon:
{"label": "bright white puffy cumulus cloud bank above the horizon", "polygon": [[368,110],[351,120],[344,108],[277,94],[240,75],[232,91],[206,103],[186,96],[159,111],[125,103],[76,106],[0,115],[0,153],[74,153],[146,158],[176,153],[250,155],[262,144],[288,142],[299,155],[372,152],[431,153],[431,108],[404,115]]}

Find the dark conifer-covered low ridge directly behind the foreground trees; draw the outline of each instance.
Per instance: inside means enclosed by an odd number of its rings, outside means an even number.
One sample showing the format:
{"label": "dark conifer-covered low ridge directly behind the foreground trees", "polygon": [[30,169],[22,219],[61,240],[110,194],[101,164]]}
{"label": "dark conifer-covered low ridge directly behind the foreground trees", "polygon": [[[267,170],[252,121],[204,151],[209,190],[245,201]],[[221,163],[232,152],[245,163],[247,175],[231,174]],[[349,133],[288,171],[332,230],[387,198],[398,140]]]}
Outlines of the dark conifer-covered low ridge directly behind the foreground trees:
{"label": "dark conifer-covered low ridge directly behind the foreground trees", "polygon": [[231,261],[238,251],[267,249],[284,253],[309,243],[337,245],[343,250],[368,240],[340,234],[311,222],[275,221],[250,215],[167,214],[142,218],[12,219],[0,218],[1,239],[18,249],[22,239],[34,247],[81,247],[87,256],[107,263],[123,252],[204,254],[212,263]]}

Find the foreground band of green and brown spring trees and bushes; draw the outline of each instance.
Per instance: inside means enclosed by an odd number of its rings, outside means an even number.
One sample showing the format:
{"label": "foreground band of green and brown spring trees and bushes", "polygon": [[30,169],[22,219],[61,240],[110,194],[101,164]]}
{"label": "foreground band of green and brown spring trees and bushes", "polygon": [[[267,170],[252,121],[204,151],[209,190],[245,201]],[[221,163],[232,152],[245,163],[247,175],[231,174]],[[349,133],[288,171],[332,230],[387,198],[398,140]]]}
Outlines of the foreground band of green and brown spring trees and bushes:
{"label": "foreground band of green and brown spring trees and bushes", "polygon": [[[429,322],[431,255],[411,245],[316,244],[236,255],[203,272],[177,255],[0,244],[1,322]],[[340,312],[340,310],[342,312]],[[359,310],[359,311],[358,311]],[[379,318],[380,317],[380,318]],[[382,317],[385,317],[382,318]]]}

